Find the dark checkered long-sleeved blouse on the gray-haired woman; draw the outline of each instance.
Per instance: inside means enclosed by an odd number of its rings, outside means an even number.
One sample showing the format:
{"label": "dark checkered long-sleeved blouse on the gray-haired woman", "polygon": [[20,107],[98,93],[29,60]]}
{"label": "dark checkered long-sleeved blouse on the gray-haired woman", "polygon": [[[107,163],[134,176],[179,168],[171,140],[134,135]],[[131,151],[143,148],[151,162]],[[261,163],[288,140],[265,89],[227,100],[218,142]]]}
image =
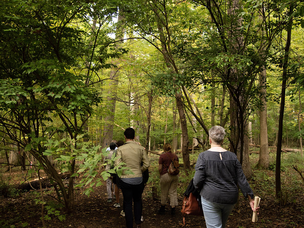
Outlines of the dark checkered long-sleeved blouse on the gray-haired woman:
{"label": "dark checkered long-sleeved blouse on the gray-haired woman", "polygon": [[[222,156],[222,160],[220,158]],[[193,178],[200,195],[211,202],[231,205],[237,202],[239,185],[243,195],[254,199],[237,156],[230,152],[206,150],[199,154]]]}

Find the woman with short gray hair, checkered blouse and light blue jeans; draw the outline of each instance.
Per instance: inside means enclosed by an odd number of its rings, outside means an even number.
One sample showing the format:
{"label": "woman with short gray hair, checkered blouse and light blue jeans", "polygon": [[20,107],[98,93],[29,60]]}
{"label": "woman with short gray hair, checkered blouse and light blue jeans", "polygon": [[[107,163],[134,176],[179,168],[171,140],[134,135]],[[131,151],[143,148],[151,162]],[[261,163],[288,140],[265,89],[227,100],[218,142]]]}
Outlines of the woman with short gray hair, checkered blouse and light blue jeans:
{"label": "woman with short gray hair, checkered blouse and light blue jeans", "polygon": [[221,147],[225,134],[221,126],[210,128],[211,148],[199,154],[195,165],[193,184],[202,198],[207,228],[225,228],[239,195],[237,185],[251,209],[259,209],[254,208],[254,195],[237,156]]}

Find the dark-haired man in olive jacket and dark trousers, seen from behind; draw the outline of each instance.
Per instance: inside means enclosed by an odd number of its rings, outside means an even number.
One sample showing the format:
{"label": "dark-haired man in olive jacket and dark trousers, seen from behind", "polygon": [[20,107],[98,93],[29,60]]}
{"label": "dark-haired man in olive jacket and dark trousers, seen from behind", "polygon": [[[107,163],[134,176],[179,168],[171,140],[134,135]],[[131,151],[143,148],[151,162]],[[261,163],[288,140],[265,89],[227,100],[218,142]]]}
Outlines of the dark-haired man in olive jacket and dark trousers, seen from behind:
{"label": "dark-haired man in olive jacket and dark trousers, seen from behind", "polygon": [[[150,166],[150,160],[147,156],[144,147],[137,145],[134,142],[135,131],[133,128],[127,128],[124,132],[126,143],[118,147],[116,151],[115,165],[124,162],[126,167],[130,168],[133,174],[121,175],[120,185],[123,193],[123,209],[125,211],[126,227],[133,228],[133,213],[132,213],[132,200],[134,203],[134,217],[136,227],[140,228],[141,225],[141,195],[142,195],[142,182],[143,171]],[[141,165],[142,164],[142,165]]]}

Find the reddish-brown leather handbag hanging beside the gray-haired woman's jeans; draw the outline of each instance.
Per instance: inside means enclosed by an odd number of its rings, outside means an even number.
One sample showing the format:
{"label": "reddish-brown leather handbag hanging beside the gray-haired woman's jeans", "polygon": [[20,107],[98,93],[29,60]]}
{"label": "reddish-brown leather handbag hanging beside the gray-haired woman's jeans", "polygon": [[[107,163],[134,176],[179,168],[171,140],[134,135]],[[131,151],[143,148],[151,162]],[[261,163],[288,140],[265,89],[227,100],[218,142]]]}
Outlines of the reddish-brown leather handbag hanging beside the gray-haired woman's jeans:
{"label": "reddish-brown leather handbag hanging beside the gray-haired woman's jeans", "polygon": [[185,198],[183,200],[181,213],[183,215],[184,225],[185,225],[185,216],[186,215],[204,216],[202,206],[199,206],[199,202],[198,202],[197,198],[192,193],[189,194],[189,197],[185,196]]}

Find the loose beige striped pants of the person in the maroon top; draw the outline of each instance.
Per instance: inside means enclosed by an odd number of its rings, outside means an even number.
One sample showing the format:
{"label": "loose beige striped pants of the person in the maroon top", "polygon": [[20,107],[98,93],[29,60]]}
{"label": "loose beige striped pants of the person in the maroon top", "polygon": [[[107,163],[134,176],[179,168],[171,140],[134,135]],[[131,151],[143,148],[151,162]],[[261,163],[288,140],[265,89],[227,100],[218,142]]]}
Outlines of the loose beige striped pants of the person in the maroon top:
{"label": "loose beige striped pants of the person in the maroon top", "polygon": [[178,175],[166,173],[161,175],[161,205],[166,205],[168,194],[170,196],[170,206],[177,206],[177,184]]}

